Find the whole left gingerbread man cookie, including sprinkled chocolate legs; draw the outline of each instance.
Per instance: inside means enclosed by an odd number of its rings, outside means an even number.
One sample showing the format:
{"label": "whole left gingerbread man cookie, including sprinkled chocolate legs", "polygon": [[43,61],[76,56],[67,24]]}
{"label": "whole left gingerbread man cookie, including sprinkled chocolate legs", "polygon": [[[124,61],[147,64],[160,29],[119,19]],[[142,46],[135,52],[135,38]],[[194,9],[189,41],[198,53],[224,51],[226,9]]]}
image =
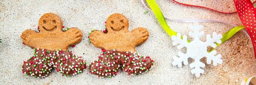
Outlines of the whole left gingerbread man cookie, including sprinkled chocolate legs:
{"label": "whole left gingerbread man cookie, including sprinkled chocolate legs", "polygon": [[64,76],[80,74],[86,62],[68,50],[70,45],[81,42],[82,31],[69,28],[62,31],[63,24],[57,14],[44,14],[39,20],[38,30],[26,30],[21,34],[25,45],[34,48],[34,55],[22,66],[23,74],[47,77],[53,68]]}

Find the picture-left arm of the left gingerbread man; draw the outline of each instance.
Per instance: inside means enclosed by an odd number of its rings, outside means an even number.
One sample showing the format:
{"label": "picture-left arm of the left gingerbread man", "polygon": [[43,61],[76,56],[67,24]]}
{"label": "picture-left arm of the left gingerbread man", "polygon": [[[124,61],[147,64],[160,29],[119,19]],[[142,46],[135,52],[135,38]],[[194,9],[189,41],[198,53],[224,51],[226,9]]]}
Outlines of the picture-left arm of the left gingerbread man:
{"label": "picture-left arm of the left gingerbread man", "polygon": [[36,31],[34,30],[26,30],[23,31],[23,33],[21,34],[21,38],[22,38],[22,42],[32,48],[36,48],[35,44],[32,44],[35,42],[35,39],[33,39],[34,36],[36,36],[36,34],[38,34]]}

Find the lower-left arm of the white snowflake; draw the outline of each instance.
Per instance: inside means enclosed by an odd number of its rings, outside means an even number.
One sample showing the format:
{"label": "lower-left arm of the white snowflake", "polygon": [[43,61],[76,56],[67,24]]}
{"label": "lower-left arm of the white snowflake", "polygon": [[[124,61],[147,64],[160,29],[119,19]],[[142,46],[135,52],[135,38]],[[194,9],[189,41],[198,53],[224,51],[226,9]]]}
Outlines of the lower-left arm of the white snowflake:
{"label": "lower-left arm of the white snowflake", "polygon": [[180,57],[176,57],[176,56],[173,57],[174,61],[172,62],[172,65],[174,66],[178,65],[178,67],[182,67],[182,62],[184,65],[188,65],[189,56],[187,54],[183,54],[182,52],[178,52],[178,55]]}

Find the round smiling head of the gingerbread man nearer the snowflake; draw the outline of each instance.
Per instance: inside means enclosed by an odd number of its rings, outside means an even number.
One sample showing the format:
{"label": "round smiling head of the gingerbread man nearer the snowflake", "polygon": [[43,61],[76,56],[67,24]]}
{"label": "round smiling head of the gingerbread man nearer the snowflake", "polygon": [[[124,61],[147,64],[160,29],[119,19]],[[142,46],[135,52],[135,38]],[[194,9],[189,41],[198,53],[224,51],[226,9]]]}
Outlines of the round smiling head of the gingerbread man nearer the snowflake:
{"label": "round smiling head of the gingerbread man nearer the snowflake", "polygon": [[128,32],[129,22],[128,19],[122,14],[112,14],[106,21],[108,32]]}

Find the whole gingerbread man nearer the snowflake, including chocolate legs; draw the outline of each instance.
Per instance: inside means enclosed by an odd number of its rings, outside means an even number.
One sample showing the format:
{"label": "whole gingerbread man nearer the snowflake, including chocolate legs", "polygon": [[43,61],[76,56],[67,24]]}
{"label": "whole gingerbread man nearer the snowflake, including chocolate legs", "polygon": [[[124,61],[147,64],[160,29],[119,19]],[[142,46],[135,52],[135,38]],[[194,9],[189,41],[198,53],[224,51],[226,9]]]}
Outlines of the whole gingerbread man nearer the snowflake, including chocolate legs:
{"label": "whole gingerbread man nearer the snowflake, including chocolate legs", "polygon": [[103,53],[90,64],[90,73],[99,77],[113,77],[119,69],[128,74],[138,75],[149,71],[154,61],[150,57],[140,56],[135,47],[148,39],[146,28],[128,31],[128,19],[122,14],[112,14],[106,21],[107,32],[92,31],[90,42]]}

